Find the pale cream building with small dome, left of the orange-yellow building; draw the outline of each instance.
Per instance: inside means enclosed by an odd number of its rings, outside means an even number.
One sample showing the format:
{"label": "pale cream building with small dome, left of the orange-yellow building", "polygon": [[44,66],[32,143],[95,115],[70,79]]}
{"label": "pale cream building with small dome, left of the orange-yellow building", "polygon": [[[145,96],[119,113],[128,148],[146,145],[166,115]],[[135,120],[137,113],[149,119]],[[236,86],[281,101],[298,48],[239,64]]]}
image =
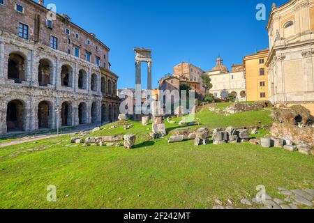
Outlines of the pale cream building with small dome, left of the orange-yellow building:
{"label": "pale cream building with small dome, left of the orange-yellow building", "polygon": [[209,91],[216,98],[226,99],[228,93],[237,95],[237,101],[246,101],[246,79],[244,75],[244,65],[233,65],[232,72],[223,66],[223,59],[218,56],[216,66],[209,72],[204,72],[204,75],[209,75],[213,88]]}

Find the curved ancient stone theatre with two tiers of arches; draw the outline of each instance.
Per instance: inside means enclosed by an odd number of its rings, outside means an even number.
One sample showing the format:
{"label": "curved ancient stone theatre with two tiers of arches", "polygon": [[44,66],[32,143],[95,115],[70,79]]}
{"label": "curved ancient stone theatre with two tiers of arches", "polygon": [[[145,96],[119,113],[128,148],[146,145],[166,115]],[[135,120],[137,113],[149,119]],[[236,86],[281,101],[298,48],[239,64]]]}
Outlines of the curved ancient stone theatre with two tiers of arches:
{"label": "curved ancient stone theatre with two tiers of arches", "polygon": [[0,17],[0,134],[114,120],[118,77],[93,33],[43,1],[0,1]]}

